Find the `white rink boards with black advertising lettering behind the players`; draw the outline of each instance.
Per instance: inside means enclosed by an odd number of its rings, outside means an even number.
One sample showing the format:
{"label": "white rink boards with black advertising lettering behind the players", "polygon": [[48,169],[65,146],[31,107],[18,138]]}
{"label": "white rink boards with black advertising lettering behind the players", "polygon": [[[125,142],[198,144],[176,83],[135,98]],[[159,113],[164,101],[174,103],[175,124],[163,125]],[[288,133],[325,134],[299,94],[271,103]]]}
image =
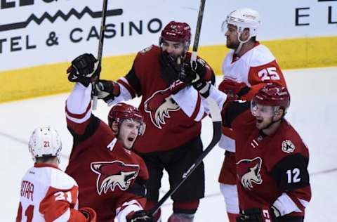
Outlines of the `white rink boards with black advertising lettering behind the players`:
{"label": "white rink boards with black advertising lettering behind the players", "polygon": [[[92,27],[99,33],[100,18],[92,18],[88,13],[84,13],[81,18],[72,15],[64,19],[55,14],[69,15],[71,10],[81,12],[86,6],[93,12],[99,12],[102,10],[102,2],[102,0],[1,1],[0,71],[65,62],[84,52],[96,54],[98,37],[91,37],[88,40],[87,38]],[[27,5],[20,6],[24,3]],[[261,40],[337,35],[336,0],[208,0],[199,44],[223,44],[221,23],[230,11],[244,6],[254,8],[261,14],[263,20],[259,35]],[[296,25],[296,8],[304,8],[299,11],[299,15],[308,15],[298,17],[298,25]],[[123,12],[121,15],[107,17],[107,29],[110,30],[107,31],[107,35],[110,35],[110,38],[105,39],[103,55],[119,55],[134,53],[150,44],[157,44],[159,30],[170,20],[188,22],[194,33],[199,1],[114,0],[109,1],[108,9],[122,9]],[[40,24],[33,20],[26,24],[32,15],[41,20]],[[45,17],[48,15],[49,19],[42,20],[43,15]],[[150,22],[151,20],[154,21]],[[130,34],[129,22],[134,22],[139,27],[140,21],[143,22],[142,33],[138,34],[133,30],[133,34]],[[152,24],[151,29],[154,33],[147,29],[149,23]],[[124,34],[121,33],[122,26]],[[81,32],[74,31],[75,29],[81,29]],[[114,37],[112,29],[116,32]],[[58,45],[46,45],[51,32],[55,32]],[[83,39],[74,43],[70,40],[71,34],[73,39]]]}

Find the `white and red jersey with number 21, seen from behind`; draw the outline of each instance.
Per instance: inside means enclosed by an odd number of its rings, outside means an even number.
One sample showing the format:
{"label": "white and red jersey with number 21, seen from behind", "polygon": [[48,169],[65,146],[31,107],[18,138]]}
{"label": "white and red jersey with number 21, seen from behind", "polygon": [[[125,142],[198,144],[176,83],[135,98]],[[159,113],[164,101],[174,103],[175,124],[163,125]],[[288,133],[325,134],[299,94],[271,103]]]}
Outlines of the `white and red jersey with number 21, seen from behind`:
{"label": "white and red jersey with number 21, seen from behind", "polygon": [[77,211],[78,185],[51,164],[35,163],[22,178],[16,221],[86,221]]}

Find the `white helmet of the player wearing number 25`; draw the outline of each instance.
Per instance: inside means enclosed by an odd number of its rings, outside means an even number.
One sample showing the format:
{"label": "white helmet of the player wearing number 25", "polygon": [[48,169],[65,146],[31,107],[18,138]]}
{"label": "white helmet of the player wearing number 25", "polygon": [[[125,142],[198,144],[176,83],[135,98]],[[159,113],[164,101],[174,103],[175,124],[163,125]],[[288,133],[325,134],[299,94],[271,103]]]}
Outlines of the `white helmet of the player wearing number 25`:
{"label": "white helmet of the player wearing number 25", "polygon": [[[248,28],[250,39],[251,37],[256,37],[258,34],[258,26],[261,24],[260,14],[251,8],[239,8],[227,15],[223,26],[225,23],[236,26],[238,33]],[[223,29],[224,28],[225,27],[223,27]]]}

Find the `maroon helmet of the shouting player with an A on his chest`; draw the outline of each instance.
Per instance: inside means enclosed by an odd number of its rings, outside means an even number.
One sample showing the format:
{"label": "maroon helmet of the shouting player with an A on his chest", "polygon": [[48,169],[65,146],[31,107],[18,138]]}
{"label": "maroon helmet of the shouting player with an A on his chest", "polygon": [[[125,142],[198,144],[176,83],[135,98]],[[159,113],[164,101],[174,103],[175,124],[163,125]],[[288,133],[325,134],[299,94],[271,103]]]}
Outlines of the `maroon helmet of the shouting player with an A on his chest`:
{"label": "maroon helmet of the shouting player with an A on his chest", "polygon": [[132,119],[136,122],[140,122],[138,134],[143,135],[146,125],[142,113],[136,107],[126,103],[117,103],[114,105],[107,116],[109,126],[111,127],[114,121],[121,123],[123,119]]}

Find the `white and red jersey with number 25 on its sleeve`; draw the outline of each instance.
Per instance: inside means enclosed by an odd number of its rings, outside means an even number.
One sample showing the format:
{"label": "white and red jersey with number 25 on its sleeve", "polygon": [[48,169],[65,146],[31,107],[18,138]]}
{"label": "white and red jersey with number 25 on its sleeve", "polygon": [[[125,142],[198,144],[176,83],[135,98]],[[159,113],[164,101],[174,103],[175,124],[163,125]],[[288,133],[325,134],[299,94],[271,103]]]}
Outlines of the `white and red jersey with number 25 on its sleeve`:
{"label": "white and red jersey with number 25 on its sleeve", "polygon": [[[249,93],[242,96],[243,100],[251,100],[255,93],[267,82],[275,82],[286,86],[277,61],[270,50],[256,42],[256,45],[241,57],[231,50],[223,60],[223,78],[230,78],[234,81],[244,82],[251,89]],[[223,135],[219,142],[220,148],[235,152],[234,138],[231,129],[223,129]]]}

